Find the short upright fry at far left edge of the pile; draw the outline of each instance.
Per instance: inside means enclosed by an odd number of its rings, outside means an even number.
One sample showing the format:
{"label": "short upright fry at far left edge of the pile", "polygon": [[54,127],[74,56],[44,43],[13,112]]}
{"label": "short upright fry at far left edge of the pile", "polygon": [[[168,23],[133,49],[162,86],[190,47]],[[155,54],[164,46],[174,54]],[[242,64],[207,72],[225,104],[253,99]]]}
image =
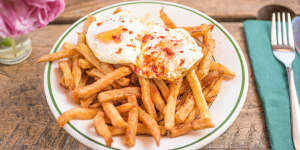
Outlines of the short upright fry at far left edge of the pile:
{"label": "short upright fry at far left edge of the pile", "polygon": [[69,62],[68,61],[61,61],[58,63],[60,70],[63,73],[63,80],[65,85],[70,88],[73,89],[74,88],[74,80],[72,77],[72,73],[71,73],[71,68],[69,66]]}

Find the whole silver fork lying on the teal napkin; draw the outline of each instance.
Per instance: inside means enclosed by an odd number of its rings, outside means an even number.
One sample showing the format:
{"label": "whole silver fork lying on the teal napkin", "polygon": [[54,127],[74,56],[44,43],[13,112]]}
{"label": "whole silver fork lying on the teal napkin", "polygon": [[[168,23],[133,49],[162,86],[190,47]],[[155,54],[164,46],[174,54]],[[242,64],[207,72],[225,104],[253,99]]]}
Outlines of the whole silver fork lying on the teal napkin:
{"label": "whole silver fork lying on the teal napkin", "polygon": [[[287,13],[288,31],[286,31],[285,17],[286,15],[283,12],[281,24],[280,13],[277,13],[276,31],[276,14],[272,14],[271,44],[274,56],[277,58],[278,61],[285,65],[287,70],[289,81],[292,137],[295,149],[300,150],[300,108],[294,81],[294,72],[292,68],[292,64],[295,59],[294,36],[290,13]],[[281,29],[283,30],[283,33],[281,33]]]}

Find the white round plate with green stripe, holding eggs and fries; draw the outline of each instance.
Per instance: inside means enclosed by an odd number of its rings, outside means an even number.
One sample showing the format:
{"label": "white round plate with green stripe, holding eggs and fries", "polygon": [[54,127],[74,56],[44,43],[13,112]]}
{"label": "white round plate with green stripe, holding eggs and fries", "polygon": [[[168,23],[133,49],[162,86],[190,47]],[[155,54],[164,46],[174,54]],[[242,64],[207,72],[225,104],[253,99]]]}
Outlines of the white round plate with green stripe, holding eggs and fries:
{"label": "white round plate with green stripe, holding eggs and fries", "polygon": [[[166,13],[178,26],[196,26],[202,23],[213,23],[216,27],[213,30],[213,37],[216,40],[215,59],[217,62],[228,66],[236,78],[229,82],[223,82],[220,94],[210,107],[215,128],[201,131],[193,131],[184,136],[176,138],[162,137],[160,146],[156,147],[150,136],[137,136],[136,145],[131,149],[198,149],[210,143],[220,136],[236,119],[245,102],[248,89],[248,69],[245,58],[236,41],[227,30],[215,20],[204,13],[187,6],[160,2],[160,1],[131,1],[111,5],[92,12],[96,16],[108,16],[117,8],[130,10],[137,15],[150,13],[157,22],[159,10],[164,7]],[[86,16],[75,22],[65,31],[53,46],[51,53],[58,51],[62,43],[68,41],[75,44],[77,41],[76,32],[81,31]],[[66,91],[60,87],[57,79],[57,62],[48,63],[44,73],[44,89],[49,107],[55,118],[68,109],[76,107]],[[96,135],[92,120],[74,120],[64,126],[74,138],[93,149],[127,149],[122,137],[114,137],[112,147],[106,147],[104,140]]]}

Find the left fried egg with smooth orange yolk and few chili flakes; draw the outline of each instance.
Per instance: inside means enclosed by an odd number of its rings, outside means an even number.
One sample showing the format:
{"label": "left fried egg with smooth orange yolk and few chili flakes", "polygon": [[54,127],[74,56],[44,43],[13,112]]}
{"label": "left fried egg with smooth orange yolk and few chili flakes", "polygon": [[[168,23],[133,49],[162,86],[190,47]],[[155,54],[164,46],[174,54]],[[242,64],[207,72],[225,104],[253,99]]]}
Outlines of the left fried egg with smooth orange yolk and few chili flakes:
{"label": "left fried egg with smooth orange yolk and few chili flakes", "polygon": [[139,18],[123,11],[107,18],[96,18],[88,29],[86,42],[102,62],[135,64],[141,47],[137,38],[142,36],[142,29],[144,25]]}

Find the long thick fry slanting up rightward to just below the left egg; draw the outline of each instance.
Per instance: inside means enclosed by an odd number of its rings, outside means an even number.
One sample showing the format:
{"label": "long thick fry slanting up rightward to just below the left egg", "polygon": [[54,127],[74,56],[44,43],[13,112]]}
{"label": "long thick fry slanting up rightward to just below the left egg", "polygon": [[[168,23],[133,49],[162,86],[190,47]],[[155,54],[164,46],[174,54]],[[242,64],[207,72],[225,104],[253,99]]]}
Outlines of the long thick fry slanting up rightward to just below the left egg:
{"label": "long thick fry slanting up rightward to just below the left egg", "polygon": [[87,85],[85,87],[77,88],[73,90],[73,97],[78,98],[88,98],[93,94],[101,91],[105,87],[112,84],[115,80],[120,79],[121,77],[127,76],[131,73],[130,69],[127,67],[118,68],[108,74],[103,78],[97,80],[96,82]]}

